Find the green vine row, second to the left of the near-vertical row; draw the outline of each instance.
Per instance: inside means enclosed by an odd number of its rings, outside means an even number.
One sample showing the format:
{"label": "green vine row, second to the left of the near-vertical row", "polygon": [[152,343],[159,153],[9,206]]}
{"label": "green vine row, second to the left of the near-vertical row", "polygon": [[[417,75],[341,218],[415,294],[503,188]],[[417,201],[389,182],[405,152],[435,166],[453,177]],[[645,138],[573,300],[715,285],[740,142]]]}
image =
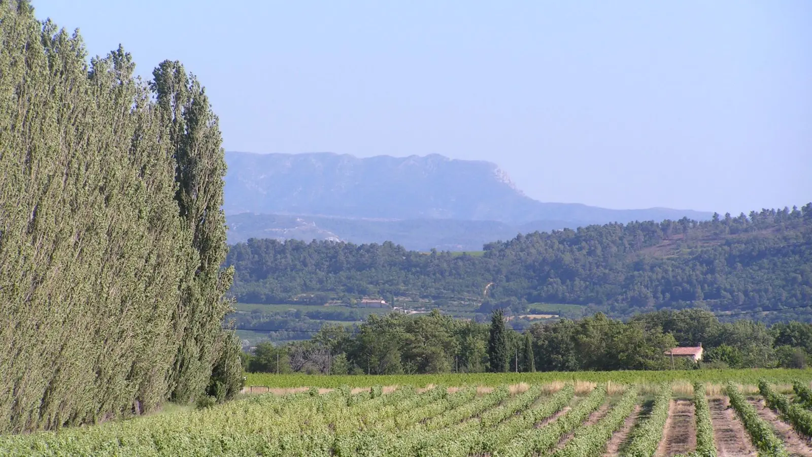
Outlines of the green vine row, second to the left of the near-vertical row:
{"label": "green vine row, second to the left of the near-vertical row", "polygon": [[607,442],[613,433],[623,427],[623,424],[637,403],[637,388],[631,387],[623,394],[620,401],[612,407],[611,411],[598,420],[597,424],[587,425],[577,429],[575,436],[567,445],[553,454],[553,457],[590,457],[603,453]]}

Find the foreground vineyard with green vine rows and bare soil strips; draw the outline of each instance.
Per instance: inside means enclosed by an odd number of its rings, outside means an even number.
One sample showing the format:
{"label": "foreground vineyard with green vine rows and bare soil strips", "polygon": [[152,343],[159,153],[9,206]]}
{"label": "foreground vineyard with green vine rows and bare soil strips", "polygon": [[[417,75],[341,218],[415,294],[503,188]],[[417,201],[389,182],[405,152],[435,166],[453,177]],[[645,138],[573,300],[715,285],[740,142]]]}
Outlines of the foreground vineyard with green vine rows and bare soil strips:
{"label": "foreground vineyard with green vine rows and bare soil strips", "polygon": [[810,403],[809,381],[782,376],[753,384],[340,385],[0,436],[0,455],[812,455]]}

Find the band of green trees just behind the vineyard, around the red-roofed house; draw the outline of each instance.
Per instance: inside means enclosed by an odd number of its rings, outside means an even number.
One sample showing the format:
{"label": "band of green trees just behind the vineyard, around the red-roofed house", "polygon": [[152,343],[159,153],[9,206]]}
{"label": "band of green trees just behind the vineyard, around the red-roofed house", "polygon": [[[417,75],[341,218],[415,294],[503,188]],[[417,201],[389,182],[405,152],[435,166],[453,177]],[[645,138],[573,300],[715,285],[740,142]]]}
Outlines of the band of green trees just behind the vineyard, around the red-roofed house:
{"label": "band of green trees just behind the vineyard, around the red-roofed house", "polygon": [[[657,311],[628,322],[598,313],[533,324],[524,333],[508,329],[501,343],[494,335],[493,322],[455,320],[437,310],[419,317],[392,313],[354,327],[326,325],[304,342],[260,343],[243,363],[248,372],[311,374],[572,372],[805,368],[812,355],[812,324],[723,323],[702,310]],[[700,344],[700,363],[664,355]]]}

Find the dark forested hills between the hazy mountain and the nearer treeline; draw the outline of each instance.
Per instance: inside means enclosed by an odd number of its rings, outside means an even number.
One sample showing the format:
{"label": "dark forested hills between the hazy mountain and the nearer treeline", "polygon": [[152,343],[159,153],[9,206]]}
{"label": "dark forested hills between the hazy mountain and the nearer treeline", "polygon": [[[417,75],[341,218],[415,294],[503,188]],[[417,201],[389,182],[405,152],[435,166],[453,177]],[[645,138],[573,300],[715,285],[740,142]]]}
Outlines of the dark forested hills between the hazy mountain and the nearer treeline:
{"label": "dark forested hills between the hazy mountain and the nearer treeline", "polygon": [[[226,263],[235,267],[231,294],[240,302],[432,298],[475,303],[482,312],[554,302],[592,305],[611,316],[798,307],[812,303],[812,204],[704,222],[531,233],[489,243],[481,256],[421,253],[389,242],[252,239],[233,246]],[[763,317],[798,316],[810,311]]]}

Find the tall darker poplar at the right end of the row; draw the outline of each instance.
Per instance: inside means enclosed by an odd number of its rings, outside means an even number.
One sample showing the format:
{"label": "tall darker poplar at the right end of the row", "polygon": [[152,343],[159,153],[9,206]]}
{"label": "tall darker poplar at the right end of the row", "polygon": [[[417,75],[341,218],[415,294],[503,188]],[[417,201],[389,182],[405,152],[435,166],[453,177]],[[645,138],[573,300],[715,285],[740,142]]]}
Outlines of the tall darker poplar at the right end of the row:
{"label": "tall darker poplar at the right end of the row", "polygon": [[185,335],[171,374],[172,398],[186,402],[205,389],[217,354],[222,297],[233,269],[221,271],[227,254],[223,181],[226,162],[218,118],[205,90],[181,63],[165,60],[153,71],[151,89],[175,159],[178,214],[192,233],[193,258],[187,264],[175,331]]}

